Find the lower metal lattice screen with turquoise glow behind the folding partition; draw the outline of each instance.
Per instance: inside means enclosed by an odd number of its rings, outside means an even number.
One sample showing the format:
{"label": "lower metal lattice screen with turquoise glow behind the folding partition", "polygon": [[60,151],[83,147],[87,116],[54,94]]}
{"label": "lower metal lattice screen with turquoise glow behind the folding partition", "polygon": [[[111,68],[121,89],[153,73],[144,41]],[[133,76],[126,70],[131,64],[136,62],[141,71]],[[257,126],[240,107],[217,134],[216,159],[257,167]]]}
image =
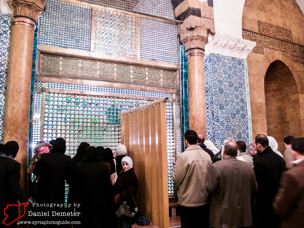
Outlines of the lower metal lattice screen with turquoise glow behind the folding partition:
{"label": "lower metal lattice screen with turquoise glow behind the folding partition", "polygon": [[173,99],[175,94],[36,82],[33,146],[40,139],[63,137],[66,154],[71,157],[82,141],[115,151],[121,141],[120,113],[164,96],[169,98],[166,103],[168,195],[173,197],[172,159],[175,150],[181,153],[180,107]]}

